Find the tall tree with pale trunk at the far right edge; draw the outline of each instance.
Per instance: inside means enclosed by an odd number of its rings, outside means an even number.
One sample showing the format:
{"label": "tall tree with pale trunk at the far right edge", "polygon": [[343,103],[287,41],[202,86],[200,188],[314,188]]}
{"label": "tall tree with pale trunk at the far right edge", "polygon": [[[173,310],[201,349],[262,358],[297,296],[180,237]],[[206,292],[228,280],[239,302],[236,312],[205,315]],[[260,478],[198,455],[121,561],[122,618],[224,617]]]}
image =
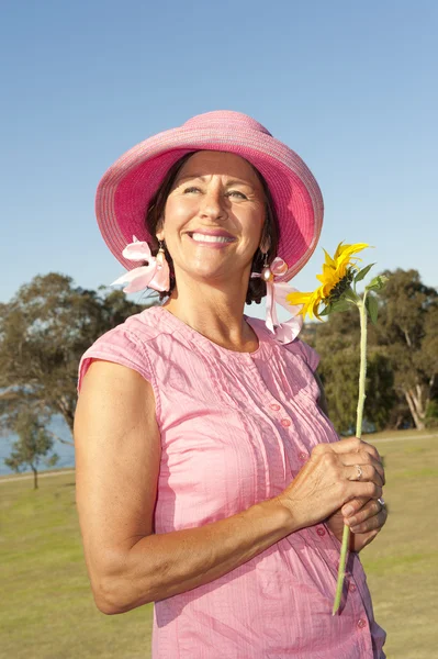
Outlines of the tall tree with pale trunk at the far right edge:
{"label": "tall tree with pale trunk at the far right edge", "polygon": [[385,350],[398,396],[415,427],[423,429],[438,393],[438,292],[422,283],[417,270],[384,275],[389,279],[380,293],[380,319],[370,331],[370,343]]}

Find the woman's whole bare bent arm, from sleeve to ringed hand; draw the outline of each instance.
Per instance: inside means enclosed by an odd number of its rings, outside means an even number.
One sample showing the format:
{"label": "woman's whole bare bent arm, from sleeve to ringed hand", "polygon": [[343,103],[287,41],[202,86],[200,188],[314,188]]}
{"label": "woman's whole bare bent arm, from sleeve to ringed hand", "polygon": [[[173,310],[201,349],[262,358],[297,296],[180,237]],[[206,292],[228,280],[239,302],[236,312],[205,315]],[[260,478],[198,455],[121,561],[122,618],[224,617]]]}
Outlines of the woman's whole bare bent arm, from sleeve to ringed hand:
{"label": "woman's whole bare bent arm, from sleeve to ringed hand", "polygon": [[202,527],[155,535],[160,442],[151,387],[128,368],[93,362],[78,402],[75,443],[79,521],[97,605],[123,613],[209,583],[355,495],[380,496],[381,476],[367,445],[364,482],[352,480],[352,442],[317,447],[281,496]]}

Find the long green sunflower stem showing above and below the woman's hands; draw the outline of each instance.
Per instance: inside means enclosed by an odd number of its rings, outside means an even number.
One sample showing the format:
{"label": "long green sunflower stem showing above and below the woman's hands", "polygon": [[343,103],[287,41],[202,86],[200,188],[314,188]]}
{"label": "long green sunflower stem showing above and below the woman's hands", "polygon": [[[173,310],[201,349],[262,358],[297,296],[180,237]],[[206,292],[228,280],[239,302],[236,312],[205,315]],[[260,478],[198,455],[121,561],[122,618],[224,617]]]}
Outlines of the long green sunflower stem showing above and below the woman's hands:
{"label": "long green sunflower stem showing above and below the woman's hands", "polygon": [[[366,309],[367,291],[364,292],[363,299],[358,299],[356,304],[359,309],[360,315],[360,368],[359,368],[359,396],[358,407],[356,414],[356,436],[362,436],[362,418],[363,418],[363,405],[366,401],[366,376],[367,376],[367,309]],[[339,568],[338,568],[338,581],[336,585],[335,602],[333,605],[332,615],[337,613],[340,605],[340,597],[342,595],[345,568],[347,563],[347,550],[350,543],[350,529],[345,524],[342,533],[342,544],[340,548]]]}

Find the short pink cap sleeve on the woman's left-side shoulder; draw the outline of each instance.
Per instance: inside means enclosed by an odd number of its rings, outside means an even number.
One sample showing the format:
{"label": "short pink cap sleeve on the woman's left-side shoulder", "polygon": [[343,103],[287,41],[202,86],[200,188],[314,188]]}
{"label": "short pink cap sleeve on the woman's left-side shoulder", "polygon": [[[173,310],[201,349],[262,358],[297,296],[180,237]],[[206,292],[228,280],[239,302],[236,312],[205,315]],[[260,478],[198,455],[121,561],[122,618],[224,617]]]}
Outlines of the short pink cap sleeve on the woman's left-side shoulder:
{"label": "short pink cap sleeve on the woman's left-side shoulder", "polygon": [[148,355],[143,342],[130,330],[119,325],[98,338],[82,355],[79,362],[78,392],[80,391],[83,376],[93,359],[103,359],[127,366],[137,371],[145,380],[151,381],[153,373]]}

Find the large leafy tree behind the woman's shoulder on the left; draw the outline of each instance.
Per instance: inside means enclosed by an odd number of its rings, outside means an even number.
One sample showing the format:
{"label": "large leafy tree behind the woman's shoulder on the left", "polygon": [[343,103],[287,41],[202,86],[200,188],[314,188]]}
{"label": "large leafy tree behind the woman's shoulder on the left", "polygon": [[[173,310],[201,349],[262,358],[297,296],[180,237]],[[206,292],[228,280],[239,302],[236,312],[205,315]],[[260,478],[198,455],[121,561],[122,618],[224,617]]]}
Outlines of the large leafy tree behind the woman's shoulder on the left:
{"label": "large leafy tree behind the woman's shoulder on the left", "polygon": [[24,409],[45,424],[60,414],[72,431],[81,355],[143,309],[121,291],[85,290],[56,272],[35,277],[0,304],[2,429],[11,432]]}

